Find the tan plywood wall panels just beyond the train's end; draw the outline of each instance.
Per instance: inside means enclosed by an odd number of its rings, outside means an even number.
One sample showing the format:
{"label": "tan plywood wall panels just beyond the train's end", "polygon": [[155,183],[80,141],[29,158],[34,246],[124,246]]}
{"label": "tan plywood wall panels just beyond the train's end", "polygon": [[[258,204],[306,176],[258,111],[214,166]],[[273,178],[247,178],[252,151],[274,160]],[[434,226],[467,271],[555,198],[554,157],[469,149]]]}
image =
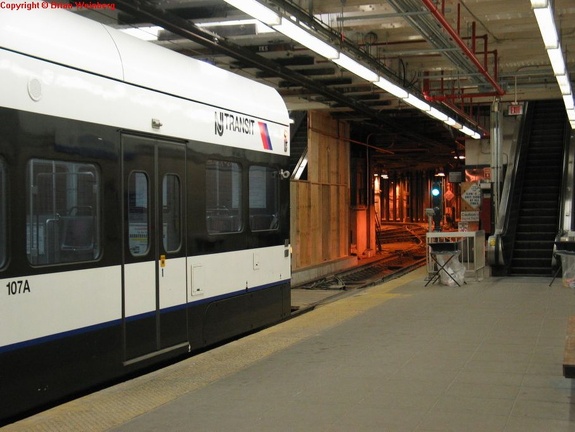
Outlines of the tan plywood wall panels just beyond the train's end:
{"label": "tan plywood wall panels just beyond the train's end", "polygon": [[349,254],[349,127],[308,114],[307,180],[291,182],[292,269]]}

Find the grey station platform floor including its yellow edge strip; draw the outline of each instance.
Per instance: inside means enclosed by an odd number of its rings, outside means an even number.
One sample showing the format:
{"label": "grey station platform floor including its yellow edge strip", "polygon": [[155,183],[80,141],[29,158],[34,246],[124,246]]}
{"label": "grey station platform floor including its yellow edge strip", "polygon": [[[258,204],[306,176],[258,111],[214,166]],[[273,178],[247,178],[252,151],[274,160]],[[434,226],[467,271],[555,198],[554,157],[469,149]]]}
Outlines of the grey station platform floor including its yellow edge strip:
{"label": "grey station platform floor including its yellow edge strip", "polygon": [[321,293],[294,319],[4,429],[574,431],[562,360],[575,291],[426,275]]}

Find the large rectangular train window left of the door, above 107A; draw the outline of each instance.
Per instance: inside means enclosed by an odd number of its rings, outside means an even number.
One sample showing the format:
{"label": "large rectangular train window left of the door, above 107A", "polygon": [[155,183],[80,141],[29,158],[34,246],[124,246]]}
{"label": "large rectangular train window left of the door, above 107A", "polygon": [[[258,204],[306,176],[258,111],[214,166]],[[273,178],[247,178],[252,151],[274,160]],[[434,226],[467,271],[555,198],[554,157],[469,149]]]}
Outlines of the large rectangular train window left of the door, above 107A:
{"label": "large rectangular train window left of the door, above 107A", "polygon": [[100,255],[100,174],[93,164],[31,159],[27,166],[26,252],[33,265]]}

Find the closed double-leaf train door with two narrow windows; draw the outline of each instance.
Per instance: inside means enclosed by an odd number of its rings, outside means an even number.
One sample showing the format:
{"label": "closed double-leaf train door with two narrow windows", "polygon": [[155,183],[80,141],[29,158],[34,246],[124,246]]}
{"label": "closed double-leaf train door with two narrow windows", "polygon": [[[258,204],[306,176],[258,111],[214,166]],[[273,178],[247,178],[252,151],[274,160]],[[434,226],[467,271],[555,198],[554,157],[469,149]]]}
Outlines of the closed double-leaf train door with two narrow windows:
{"label": "closed double-leaf train door with two narrow windows", "polygon": [[125,363],[187,349],[185,145],[122,139]]}

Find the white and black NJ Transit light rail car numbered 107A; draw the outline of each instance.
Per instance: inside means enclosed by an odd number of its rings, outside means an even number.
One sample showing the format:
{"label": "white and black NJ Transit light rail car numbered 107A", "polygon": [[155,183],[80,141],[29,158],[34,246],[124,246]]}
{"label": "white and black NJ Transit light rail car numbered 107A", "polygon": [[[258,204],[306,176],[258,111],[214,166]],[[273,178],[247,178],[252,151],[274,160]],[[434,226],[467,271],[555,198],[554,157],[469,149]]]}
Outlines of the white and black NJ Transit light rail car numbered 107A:
{"label": "white and black NJ Transit light rail car numbered 107A", "polygon": [[0,424],[289,316],[279,94],[69,11],[0,14]]}

